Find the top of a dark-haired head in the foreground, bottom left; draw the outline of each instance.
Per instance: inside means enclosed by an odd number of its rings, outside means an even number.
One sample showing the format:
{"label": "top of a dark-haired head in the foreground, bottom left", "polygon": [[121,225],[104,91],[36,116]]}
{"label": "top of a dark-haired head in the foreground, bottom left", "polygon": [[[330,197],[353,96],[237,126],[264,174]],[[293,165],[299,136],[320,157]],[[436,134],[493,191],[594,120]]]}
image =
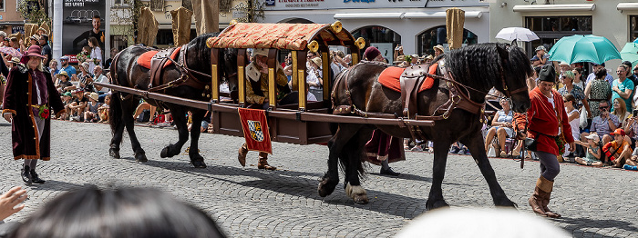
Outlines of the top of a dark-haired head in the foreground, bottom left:
{"label": "top of a dark-haired head in the foreground, bottom left", "polygon": [[15,229],[26,237],[224,237],[200,209],[149,188],[85,187],[46,203]]}

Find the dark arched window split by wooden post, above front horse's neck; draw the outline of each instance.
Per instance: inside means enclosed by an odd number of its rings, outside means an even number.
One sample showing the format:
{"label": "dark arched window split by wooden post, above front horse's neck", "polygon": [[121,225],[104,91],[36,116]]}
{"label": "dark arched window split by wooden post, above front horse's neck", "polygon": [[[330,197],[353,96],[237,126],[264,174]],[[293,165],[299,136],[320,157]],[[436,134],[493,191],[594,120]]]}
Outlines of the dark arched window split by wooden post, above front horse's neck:
{"label": "dark arched window split by wooden post, above front horse's neck", "polygon": [[[427,29],[417,35],[417,52],[419,55],[434,56],[434,46],[448,44],[448,28],[446,25],[439,25]],[[478,43],[478,36],[467,29],[463,29],[463,45],[474,45]]]}

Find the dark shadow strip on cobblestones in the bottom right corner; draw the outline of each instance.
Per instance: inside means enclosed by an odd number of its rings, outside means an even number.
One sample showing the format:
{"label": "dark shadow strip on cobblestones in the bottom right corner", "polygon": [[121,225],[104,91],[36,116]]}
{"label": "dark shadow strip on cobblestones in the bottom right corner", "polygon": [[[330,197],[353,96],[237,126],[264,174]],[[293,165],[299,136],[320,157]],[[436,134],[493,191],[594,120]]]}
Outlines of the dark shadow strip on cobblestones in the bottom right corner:
{"label": "dark shadow strip on cobblestones in the bottom right corner", "polygon": [[[618,230],[618,231],[626,231],[629,233],[638,233],[638,228],[635,227],[635,223],[628,223],[628,222],[624,222],[624,221],[616,221],[616,220],[612,220],[612,219],[605,219],[605,220],[593,220],[590,218],[561,218],[561,219],[556,219],[555,220],[558,223],[566,223],[567,225],[565,226],[565,230],[570,231],[572,234],[576,235],[578,233],[578,236],[589,236],[589,235],[584,235],[584,234],[592,234],[592,237],[617,237],[617,236],[605,236],[604,234],[601,233],[592,233],[592,232],[584,232],[583,230],[585,229],[592,229],[592,228],[598,228],[598,229],[605,229],[605,228],[614,228],[614,230]],[[615,233],[614,233],[615,234]],[[601,236],[602,235],[602,236]]]}

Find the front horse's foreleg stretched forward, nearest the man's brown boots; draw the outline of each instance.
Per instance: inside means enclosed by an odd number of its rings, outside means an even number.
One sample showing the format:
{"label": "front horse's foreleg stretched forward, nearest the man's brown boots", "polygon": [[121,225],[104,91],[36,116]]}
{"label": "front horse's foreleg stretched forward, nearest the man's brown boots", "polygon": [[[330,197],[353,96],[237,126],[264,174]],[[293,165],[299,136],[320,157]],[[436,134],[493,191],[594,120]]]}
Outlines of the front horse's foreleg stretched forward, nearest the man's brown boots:
{"label": "front horse's foreleg stretched forward, nearest the man's brown boots", "polygon": [[499,181],[496,179],[496,174],[492,165],[489,164],[488,155],[485,153],[485,147],[483,147],[483,137],[479,131],[468,135],[461,140],[461,143],[468,146],[469,153],[472,154],[474,162],[477,163],[480,173],[483,174],[485,180],[489,185],[489,193],[492,194],[494,204],[497,206],[516,207],[517,204],[511,202],[503,189],[500,187]]}

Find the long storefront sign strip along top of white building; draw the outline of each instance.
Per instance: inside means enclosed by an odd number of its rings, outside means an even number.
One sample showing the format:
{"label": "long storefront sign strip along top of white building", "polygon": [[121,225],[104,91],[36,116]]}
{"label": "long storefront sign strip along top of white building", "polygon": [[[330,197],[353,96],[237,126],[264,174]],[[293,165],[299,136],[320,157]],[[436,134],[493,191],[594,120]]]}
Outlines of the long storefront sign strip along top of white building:
{"label": "long storefront sign strip along top of white building", "polygon": [[489,6],[482,0],[263,0],[265,10]]}

